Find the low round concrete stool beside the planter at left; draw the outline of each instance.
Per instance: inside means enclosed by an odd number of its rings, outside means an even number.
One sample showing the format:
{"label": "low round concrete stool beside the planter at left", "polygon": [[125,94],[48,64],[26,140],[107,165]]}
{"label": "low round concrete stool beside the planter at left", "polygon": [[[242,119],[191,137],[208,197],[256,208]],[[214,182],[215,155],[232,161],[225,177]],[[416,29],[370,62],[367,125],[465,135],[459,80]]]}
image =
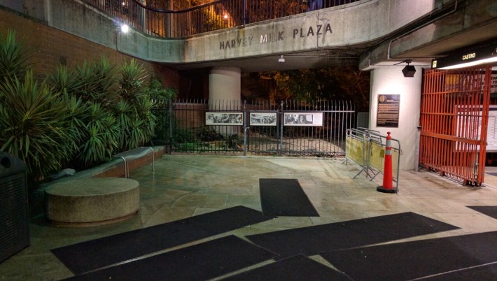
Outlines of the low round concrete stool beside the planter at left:
{"label": "low round concrete stool beside the planter at left", "polygon": [[121,222],[138,212],[139,182],[129,178],[85,178],[45,188],[45,217],[58,226]]}

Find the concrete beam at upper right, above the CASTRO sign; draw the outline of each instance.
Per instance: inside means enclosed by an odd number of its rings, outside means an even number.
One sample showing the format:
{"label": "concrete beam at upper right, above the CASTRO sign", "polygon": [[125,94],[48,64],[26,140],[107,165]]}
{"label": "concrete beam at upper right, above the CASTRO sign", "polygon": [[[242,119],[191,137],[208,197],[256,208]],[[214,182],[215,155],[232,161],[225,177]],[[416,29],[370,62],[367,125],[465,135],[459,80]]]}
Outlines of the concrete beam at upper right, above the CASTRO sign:
{"label": "concrete beam at upper right, above the CASTRO sign", "polygon": [[440,17],[363,53],[360,69],[397,64],[405,59],[412,59],[412,64],[430,66],[431,59],[497,39],[497,2],[454,1],[451,5],[454,9]]}

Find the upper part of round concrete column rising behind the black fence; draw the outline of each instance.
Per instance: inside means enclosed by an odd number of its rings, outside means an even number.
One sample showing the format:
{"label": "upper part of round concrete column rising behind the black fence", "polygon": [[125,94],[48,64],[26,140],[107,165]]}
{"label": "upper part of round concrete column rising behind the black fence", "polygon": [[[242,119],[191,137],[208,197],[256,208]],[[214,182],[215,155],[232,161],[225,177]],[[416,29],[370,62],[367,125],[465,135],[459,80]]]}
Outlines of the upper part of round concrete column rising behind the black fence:
{"label": "upper part of round concrete column rising behind the black fence", "polygon": [[209,99],[239,101],[241,70],[237,67],[215,67],[209,74]]}

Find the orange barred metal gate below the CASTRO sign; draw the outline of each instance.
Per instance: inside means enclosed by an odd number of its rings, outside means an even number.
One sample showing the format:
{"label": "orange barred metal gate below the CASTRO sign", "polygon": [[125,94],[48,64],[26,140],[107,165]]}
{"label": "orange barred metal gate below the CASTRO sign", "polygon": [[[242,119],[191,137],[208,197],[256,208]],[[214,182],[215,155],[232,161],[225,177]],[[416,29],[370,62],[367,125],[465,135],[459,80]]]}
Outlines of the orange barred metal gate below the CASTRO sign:
{"label": "orange barred metal gate below the CASTRO sign", "polygon": [[424,73],[419,166],[464,185],[482,184],[490,80],[490,66]]}

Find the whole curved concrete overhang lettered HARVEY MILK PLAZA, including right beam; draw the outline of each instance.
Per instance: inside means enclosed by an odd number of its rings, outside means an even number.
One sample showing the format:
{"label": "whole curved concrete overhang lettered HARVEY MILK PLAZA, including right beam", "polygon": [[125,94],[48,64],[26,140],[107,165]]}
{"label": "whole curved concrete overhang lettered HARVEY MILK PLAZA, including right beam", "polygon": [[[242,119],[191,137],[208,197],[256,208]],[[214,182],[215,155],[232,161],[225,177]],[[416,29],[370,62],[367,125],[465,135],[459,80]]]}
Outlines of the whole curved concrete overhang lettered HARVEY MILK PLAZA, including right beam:
{"label": "whole curved concrete overhang lettered HARVEY MILK PLAZA, including right beam", "polygon": [[[367,70],[404,59],[428,65],[431,57],[497,38],[493,0],[363,0],[180,39],[138,31],[118,34],[118,20],[80,1],[36,1],[43,2],[41,20],[51,27],[180,70],[236,66],[255,72],[343,65]],[[280,55],[284,64],[278,62]]]}

